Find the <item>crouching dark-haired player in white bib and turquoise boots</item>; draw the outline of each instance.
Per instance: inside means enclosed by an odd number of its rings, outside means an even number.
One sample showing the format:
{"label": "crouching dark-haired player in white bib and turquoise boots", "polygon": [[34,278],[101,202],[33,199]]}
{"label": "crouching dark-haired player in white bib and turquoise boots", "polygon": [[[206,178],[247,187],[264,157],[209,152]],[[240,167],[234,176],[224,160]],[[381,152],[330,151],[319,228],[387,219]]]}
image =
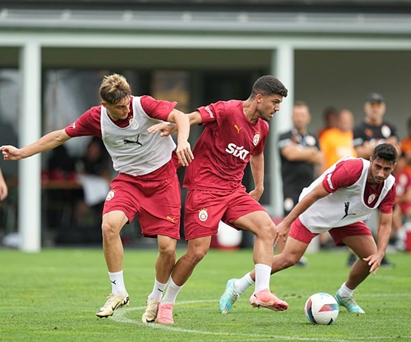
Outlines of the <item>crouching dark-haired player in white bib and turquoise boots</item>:
{"label": "crouching dark-haired player in white bib and turquoise boots", "polygon": [[[353,292],[370,273],[377,273],[385,254],[396,197],[391,175],[396,162],[395,147],[381,144],[369,161],[345,157],[303,189],[298,204],[277,225],[278,238],[286,240],[286,245],[281,254],[273,256],[271,274],[294,265],[315,236],[329,232],[335,244],[347,245],[359,257],[335,299],[350,313],[364,313]],[[364,221],[377,209],[380,223],[376,243]],[[230,279],[220,298],[220,312],[228,313],[254,279],[254,271]]]}

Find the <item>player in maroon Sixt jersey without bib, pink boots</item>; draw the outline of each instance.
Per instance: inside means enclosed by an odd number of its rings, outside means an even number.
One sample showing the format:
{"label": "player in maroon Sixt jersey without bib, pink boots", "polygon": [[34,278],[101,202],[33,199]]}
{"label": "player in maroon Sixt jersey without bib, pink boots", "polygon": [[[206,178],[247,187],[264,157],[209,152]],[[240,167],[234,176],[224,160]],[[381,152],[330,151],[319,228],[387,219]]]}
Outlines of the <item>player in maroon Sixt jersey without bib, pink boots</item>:
{"label": "player in maroon Sixt jersey without bib, pink boots", "polygon": [[[219,101],[200,107],[188,116],[190,124],[206,128],[193,150],[195,159],[186,169],[183,186],[189,188],[185,200],[184,232],[187,252],[177,261],[169,286],[161,299],[157,321],[173,324],[173,305],[178,292],[195,266],[210,248],[218,222],[255,234],[254,307],[286,310],[288,304],[269,290],[276,227],[258,200],[264,190],[264,145],[270,120],[279,110],[284,85],[271,75],[260,77],[246,101]],[[166,129],[156,127],[152,131]],[[163,132],[166,135],[166,133]],[[246,192],[241,184],[250,162],[255,189]]]}

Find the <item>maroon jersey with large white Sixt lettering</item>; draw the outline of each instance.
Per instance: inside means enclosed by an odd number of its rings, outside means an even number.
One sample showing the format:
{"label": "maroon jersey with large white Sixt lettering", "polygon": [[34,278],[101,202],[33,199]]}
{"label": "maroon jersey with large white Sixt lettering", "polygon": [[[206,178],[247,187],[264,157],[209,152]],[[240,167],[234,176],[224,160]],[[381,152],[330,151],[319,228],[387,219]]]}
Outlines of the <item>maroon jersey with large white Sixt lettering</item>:
{"label": "maroon jersey with large white Sixt lettering", "polygon": [[247,119],[242,103],[219,101],[197,109],[206,128],[194,147],[184,187],[232,192],[241,186],[250,156],[264,150],[269,131],[266,121]]}

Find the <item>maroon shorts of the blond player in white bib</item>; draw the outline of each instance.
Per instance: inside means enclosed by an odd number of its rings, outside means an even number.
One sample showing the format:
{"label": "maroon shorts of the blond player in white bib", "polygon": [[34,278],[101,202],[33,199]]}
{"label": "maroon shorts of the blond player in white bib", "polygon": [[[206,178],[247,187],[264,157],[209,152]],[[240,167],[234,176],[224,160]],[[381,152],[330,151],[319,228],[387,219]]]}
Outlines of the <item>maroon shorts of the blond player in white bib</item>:
{"label": "maroon shorts of the blond player in white bib", "polygon": [[128,222],[138,215],[144,236],[157,237],[160,234],[180,238],[181,198],[176,174],[158,181],[142,181],[119,174],[110,186],[103,215],[119,210],[127,216]]}

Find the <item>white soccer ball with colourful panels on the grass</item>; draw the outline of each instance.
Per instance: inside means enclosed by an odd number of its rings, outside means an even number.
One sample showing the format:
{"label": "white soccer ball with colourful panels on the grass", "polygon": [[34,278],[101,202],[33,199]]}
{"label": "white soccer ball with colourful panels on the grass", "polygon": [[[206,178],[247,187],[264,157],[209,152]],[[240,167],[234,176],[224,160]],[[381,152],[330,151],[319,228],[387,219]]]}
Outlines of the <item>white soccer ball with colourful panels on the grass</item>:
{"label": "white soccer ball with colourful panels on the grass", "polygon": [[328,293],[313,294],[305,303],[305,315],[312,324],[330,325],[337,319],[338,303]]}

